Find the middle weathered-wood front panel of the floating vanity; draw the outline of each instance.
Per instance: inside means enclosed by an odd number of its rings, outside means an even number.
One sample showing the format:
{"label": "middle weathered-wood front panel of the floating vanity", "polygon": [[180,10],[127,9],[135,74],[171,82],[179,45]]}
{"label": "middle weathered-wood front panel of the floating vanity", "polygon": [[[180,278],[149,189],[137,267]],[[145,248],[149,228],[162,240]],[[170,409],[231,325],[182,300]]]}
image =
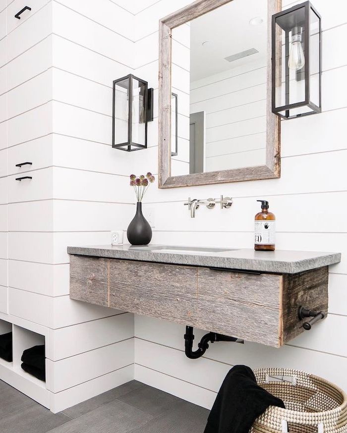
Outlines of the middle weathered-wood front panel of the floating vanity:
{"label": "middle weathered-wood front panel of the floating vanity", "polygon": [[196,325],[197,268],[110,260],[110,307]]}

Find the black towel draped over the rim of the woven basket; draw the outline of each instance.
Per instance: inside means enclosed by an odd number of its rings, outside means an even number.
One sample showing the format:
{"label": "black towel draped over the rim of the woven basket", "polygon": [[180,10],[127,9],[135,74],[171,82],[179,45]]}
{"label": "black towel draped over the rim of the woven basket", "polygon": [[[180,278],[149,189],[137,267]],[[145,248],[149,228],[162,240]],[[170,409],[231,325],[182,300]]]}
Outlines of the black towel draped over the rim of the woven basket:
{"label": "black towel draped over the rim of the woven basket", "polygon": [[248,433],[269,406],[285,409],[280,398],[257,384],[249,367],[236,365],[222,383],[204,433]]}

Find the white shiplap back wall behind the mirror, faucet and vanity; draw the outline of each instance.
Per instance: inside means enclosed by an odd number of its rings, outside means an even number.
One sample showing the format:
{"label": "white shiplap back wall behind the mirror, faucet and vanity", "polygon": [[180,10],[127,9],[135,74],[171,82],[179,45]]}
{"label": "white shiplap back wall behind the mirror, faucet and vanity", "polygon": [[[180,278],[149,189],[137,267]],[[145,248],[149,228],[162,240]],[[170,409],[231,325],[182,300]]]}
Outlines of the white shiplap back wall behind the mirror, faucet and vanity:
{"label": "white shiplap back wall behind the mirror, faucet and vanity", "polygon": [[[135,19],[143,22],[141,29],[136,29],[137,35],[141,30],[142,37],[137,45],[147,54],[147,64],[136,74],[155,88],[158,19],[188,2],[173,5],[161,0],[143,12],[140,4],[136,9]],[[285,0],[284,7],[298,2]],[[323,20],[323,112],[282,122],[281,179],[172,190],[151,188],[145,200],[148,208],[155,209],[153,243],[252,248],[253,217],[259,207],[255,200],[266,198],[277,217],[278,249],[343,253],[342,262],[330,267],[327,320],[281,349],[247,342],[217,343],[203,358],[189,360],[183,352],[184,326],[135,317],[135,378],[208,408],[234,364],[307,370],[347,389],[347,4],[340,0],[312,3]],[[146,21],[148,17],[151,22]],[[150,151],[143,153],[153,153],[155,164],[157,145],[157,131],[150,128]],[[142,171],[148,166],[144,162]],[[220,194],[234,198],[231,210],[201,209],[192,219],[183,207],[188,196]],[[204,332],[196,330],[195,342]]]}

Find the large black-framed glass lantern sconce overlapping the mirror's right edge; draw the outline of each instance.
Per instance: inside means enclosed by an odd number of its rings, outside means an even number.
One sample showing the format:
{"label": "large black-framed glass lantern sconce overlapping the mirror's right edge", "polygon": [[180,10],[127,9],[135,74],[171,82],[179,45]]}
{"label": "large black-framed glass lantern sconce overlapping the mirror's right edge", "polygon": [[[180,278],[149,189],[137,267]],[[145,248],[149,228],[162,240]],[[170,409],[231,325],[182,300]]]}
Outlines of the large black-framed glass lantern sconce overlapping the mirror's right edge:
{"label": "large black-framed glass lantern sconce overlapping the mirror's right edge", "polygon": [[309,1],[272,16],[272,112],[321,112],[321,16]]}

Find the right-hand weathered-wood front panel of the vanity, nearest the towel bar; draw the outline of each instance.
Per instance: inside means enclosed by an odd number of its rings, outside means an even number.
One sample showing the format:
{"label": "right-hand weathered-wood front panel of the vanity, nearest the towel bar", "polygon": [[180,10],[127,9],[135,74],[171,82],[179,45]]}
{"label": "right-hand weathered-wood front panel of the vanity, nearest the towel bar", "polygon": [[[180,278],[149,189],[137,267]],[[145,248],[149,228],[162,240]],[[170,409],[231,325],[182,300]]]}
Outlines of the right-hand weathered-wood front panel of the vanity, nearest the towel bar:
{"label": "right-hand weathered-wood front panel of the vanity, nearest the towel bar", "polygon": [[198,271],[198,327],[280,346],[282,275]]}

